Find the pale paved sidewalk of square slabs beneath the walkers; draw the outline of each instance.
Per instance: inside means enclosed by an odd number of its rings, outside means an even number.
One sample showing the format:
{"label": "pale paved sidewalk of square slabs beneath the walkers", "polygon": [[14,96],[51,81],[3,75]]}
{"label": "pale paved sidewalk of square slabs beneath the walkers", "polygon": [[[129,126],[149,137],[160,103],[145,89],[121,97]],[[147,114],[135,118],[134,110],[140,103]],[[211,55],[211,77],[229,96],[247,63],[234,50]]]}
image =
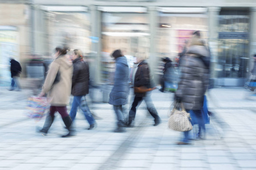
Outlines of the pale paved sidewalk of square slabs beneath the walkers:
{"label": "pale paved sidewalk of square slabs beneath the walkers", "polygon": [[[191,146],[177,146],[181,133],[167,127],[173,94],[154,91],[152,99],[162,118],[153,120],[142,104],[136,127],[113,133],[112,105],[97,103],[93,112],[104,118],[97,129],[85,130],[81,113],[75,122],[77,136],[60,138],[66,131],[58,115],[47,137],[35,132],[44,120],[23,116],[31,93],[0,90],[0,169],[256,169],[256,96],[243,88],[215,88],[209,92],[209,110],[229,125],[217,121],[207,125],[207,140]],[[129,107],[129,106],[127,106]],[[220,139],[224,134],[224,138]]]}

